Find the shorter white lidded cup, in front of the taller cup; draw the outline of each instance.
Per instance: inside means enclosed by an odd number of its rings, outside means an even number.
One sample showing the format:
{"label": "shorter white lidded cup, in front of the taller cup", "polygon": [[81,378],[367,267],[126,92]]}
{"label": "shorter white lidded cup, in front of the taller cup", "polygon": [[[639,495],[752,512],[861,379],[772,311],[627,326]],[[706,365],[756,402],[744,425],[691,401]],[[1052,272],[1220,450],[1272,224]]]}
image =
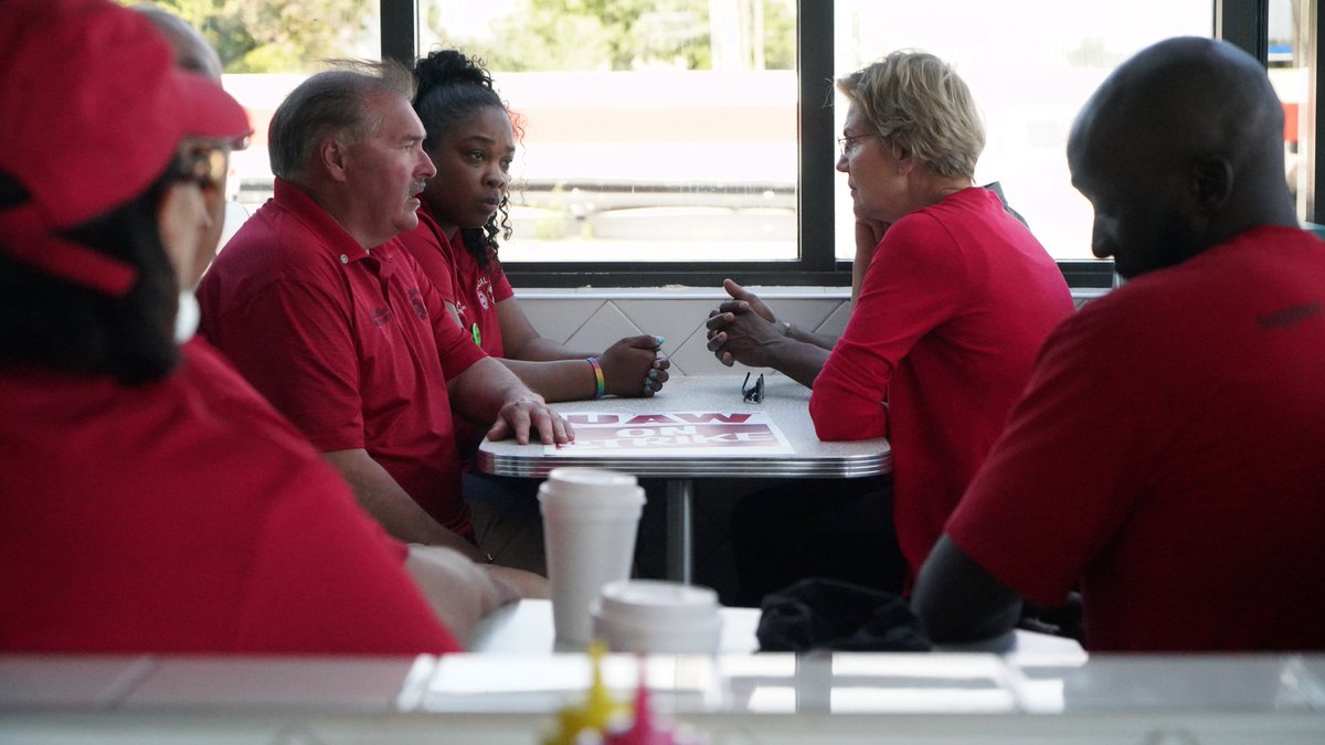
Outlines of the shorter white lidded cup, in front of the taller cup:
{"label": "shorter white lidded cup, in front of the taller cup", "polygon": [[718,594],[709,587],[627,579],[594,603],[594,636],[613,652],[712,655],[722,636]]}

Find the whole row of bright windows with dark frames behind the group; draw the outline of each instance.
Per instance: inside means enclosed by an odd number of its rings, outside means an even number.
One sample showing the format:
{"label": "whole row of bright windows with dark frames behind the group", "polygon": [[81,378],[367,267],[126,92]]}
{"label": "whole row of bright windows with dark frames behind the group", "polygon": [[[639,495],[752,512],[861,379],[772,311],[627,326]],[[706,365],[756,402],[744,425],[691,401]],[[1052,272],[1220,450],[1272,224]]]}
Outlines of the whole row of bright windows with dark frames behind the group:
{"label": "whole row of bright windows with dark frames behind the group", "polygon": [[[270,113],[317,60],[412,60],[436,44],[482,56],[527,127],[517,232],[504,245],[519,286],[717,286],[730,274],[845,286],[851,211],[833,171],[843,114],[831,81],[897,48],[934,52],[967,80],[988,127],[978,179],[1002,183],[1076,286],[1112,277],[1089,258],[1090,213],[1068,184],[1064,142],[1120,61],[1182,33],[1261,57],[1272,46],[1285,110],[1308,109],[1308,122],[1314,109],[1309,66],[1293,64],[1309,46],[1289,41],[1279,72],[1283,37],[1305,27],[1276,19],[1308,13],[1305,0],[164,4],[219,46],[225,85],[249,107],[257,142],[236,158],[236,182],[250,208],[270,190]],[[1285,147],[1312,156],[1293,121]],[[1314,168],[1289,175],[1310,215]]]}

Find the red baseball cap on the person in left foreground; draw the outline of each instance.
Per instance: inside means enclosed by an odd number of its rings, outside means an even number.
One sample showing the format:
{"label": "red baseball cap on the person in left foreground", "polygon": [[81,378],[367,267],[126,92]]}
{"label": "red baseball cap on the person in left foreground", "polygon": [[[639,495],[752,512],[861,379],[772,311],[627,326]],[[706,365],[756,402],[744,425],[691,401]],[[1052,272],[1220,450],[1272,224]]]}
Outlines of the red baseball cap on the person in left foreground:
{"label": "red baseball cap on the person in left foreground", "polygon": [[0,174],[28,199],[0,205],[0,252],[111,296],[136,268],[70,239],[147,190],[186,138],[237,141],[244,109],[180,70],[140,13],[109,0],[4,0]]}

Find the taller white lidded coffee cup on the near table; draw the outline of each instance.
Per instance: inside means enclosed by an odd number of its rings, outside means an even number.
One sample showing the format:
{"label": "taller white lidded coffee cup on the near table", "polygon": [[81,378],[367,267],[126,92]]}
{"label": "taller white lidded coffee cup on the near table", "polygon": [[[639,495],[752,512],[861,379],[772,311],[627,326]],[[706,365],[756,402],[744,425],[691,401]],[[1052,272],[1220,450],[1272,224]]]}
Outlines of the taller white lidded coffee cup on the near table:
{"label": "taller white lidded coffee cup on the near table", "polygon": [[602,468],[555,468],[538,488],[547,582],[559,642],[587,643],[590,603],[603,585],[631,575],[644,489]]}

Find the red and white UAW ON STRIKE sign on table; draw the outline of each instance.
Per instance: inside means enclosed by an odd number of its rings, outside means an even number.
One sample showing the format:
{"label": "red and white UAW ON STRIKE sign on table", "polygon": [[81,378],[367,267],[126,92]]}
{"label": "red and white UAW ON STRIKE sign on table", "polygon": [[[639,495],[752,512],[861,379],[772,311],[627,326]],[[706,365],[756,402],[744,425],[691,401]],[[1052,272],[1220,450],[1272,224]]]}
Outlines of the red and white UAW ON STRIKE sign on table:
{"label": "red and white UAW ON STRIKE sign on table", "polygon": [[550,456],[602,452],[631,456],[787,455],[791,444],[758,411],[668,411],[659,414],[563,412],[575,428],[568,445],[545,445]]}

